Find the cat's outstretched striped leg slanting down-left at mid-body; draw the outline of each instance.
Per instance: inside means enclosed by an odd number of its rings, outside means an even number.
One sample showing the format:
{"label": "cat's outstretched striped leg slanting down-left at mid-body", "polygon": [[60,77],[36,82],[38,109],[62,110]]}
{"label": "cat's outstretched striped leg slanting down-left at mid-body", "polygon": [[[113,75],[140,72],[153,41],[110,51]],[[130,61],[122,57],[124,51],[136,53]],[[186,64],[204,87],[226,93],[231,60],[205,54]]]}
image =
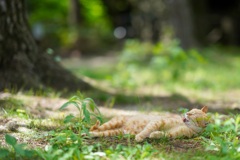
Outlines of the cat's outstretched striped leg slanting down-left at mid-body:
{"label": "cat's outstretched striped leg slanting down-left at mid-body", "polygon": [[163,123],[161,121],[150,122],[140,133],[138,133],[135,136],[135,140],[137,142],[143,141],[146,137],[149,137],[149,135],[152,132],[159,130],[162,125],[163,125]]}

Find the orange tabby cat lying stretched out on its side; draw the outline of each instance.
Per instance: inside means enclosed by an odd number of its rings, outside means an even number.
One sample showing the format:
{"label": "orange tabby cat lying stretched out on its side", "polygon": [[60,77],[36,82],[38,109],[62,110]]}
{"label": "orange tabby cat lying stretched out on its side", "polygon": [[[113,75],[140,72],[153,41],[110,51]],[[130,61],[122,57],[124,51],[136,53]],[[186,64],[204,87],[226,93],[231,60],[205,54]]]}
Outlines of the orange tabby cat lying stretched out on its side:
{"label": "orange tabby cat lying stretched out on its side", "polygon": [[145,138],[192,137],[200,133],[210,122],[206,115],[208,108],[192,109],[183,118],[181,116],[121,116],[115,117],[100,126],[100,122],[91,127],[90,135],[94,137],[135,135],[137,142]]}

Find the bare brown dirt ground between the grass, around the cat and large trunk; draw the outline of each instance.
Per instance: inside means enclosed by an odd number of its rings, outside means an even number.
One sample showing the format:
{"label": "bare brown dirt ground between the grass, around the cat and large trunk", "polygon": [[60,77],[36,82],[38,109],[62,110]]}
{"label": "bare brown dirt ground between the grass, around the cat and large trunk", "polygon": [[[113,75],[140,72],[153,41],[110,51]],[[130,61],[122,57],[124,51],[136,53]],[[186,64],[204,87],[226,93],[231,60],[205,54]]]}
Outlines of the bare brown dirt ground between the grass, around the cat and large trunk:
{"label": "bare brown dirt ground between the grass, around the cat and large trunk", "polygon": [[[112,64],[115,63],[116,59],[113,57],[107,57],[108,61]],[[74,65],[99,67],[106,65],[106,57],[87,58],[81,60],[65,60],[63,65],[67,65],[68,68],[76,67]],[[110,65],[112,65],[110,64]],[[72,65],[72,66],[71,66]],[[108,65],[108,64],[107,64]],[[97,82],[92,79],[89,83],[98,87],[103,85],[102,82]],[[154,91],[154,95],[149,94],[151,90]],[[145,92],[144,92],[145,91]],[[138,93],[141,94],[138,94]],[[153,92],[151,92],[153,93]],[[124,93],[123,93],[124,94]],[[134,95],[135,94],[135,95]],[[90,94],[91,95],[91,94]],[[194,92],[191,90],[179,90],[177,93],[169,93],[161,91],[161,88],[139,88],[135,92],[127,92],[126,99],[136,98],[137,103],[128,103],[128,101],[121,103],[116,101],[113,106],[108,103],[98,101],[100,112],[106,118],[111,118],[119,115],[136,115],[136,114],[181,114],[180,109],[182,108],[200,108],[203,105],[209,107],[209,111],[212,114],[218,113],[224,119],[228,117],[229,113],[239,114],[240,113],[240,90],[232,90],[225,93],[211,93],[211,92]],[[147,97],[147,98],[146,98]],[[52,130],[61,129],[63,119],[69,115],[77,115],[78,110],[76,107],[68,107],[63,111],[59,108],[68,100],[66,98],[60,98],[58,96],[34,96],[26,93],[10,94],[0,93],[0,144],[6,146],[5,134],[9,133],[16,137],[18,143],[26,143],[30,148],[40,147],[44,149],[48,144],[50,132]],[[5,106],[5,107],[3,107]],[[110,107],[109,107],[110,106]],[[10,107],[11,109],[9,110]],[[59,123],[60,122],[60,123]],[[14,127],[10,127],[9,124],[15,124]],[[14,125],[13,125],[14,126]],[[8,127],[8,131],[5,131]],[[201,156],[204,146],[202,145],[200,138],[195,139],[177,139],[170,141],[152,141],[147,140],[154,146],[155,149],[164,151],[166,154],[175,153],[179,156],[179,153],[187,153],[188,157],[191,155]],[[117,138],[111,137],[107,139],[93,138],[88,139],[87,144],[94,144],[99,142],[102,144],[102,148],[107,149],[109,144],[111,146],[117,146],[117,144],[123,144],[126,146],[137,145],[133,138]],[[146,143],[144,142],[144,144]],[[141,143],[143,145],[143,143]],[[198,153],[199,152],[199,153]],[[171,157],[171,158],[173,158]],[[171,159],[170,158],[170,159]],[[186,157],[183,157],[186,158]],[[181,158],[180,158],[181,159]]]}

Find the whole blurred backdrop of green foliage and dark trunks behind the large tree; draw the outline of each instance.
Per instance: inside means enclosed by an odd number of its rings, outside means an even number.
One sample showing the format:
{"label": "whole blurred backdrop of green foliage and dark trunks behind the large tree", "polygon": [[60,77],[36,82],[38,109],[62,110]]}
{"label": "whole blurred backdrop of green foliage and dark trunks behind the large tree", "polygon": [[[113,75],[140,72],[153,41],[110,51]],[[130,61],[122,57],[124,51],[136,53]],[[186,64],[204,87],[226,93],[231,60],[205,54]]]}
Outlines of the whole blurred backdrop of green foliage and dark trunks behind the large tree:
{"label": "whole blurred backdrop of green foliage and dark trunks behind the large tree", "polygon": [[63,62],[77,75],[119,88],[240,87],[238,0],[27,0],[27,8],[43,51],[117,56],[105,68]]}

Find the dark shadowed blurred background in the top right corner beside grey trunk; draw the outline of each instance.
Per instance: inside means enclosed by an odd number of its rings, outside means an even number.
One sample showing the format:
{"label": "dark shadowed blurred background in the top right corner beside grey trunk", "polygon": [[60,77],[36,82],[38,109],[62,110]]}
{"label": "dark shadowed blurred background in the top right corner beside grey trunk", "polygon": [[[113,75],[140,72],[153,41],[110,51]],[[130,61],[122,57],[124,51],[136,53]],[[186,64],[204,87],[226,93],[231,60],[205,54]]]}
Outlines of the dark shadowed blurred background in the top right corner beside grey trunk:
{"label": "dark shadowed blurred background in the top right corner beside grey trunk", "polygon": [[194,35],[203,46],[240,44],[239,0],[189,0]]}

